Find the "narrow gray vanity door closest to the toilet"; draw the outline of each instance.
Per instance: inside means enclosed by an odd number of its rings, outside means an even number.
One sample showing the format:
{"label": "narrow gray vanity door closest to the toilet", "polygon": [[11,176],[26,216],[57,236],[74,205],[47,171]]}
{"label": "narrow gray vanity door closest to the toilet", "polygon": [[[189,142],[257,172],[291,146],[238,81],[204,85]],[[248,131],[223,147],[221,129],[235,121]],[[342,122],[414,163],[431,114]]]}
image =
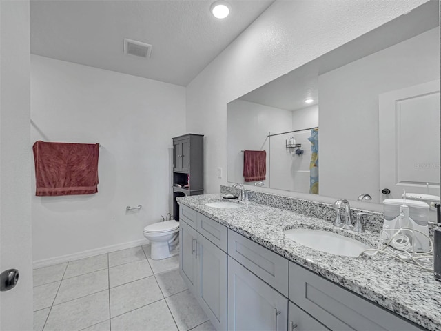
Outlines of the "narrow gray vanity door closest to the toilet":
{"label": "narrow gray vanity door closest to the toilet", "polygon": [[179,273],[194,292],[196,285],[197,232],[184,221],[179,225]]}

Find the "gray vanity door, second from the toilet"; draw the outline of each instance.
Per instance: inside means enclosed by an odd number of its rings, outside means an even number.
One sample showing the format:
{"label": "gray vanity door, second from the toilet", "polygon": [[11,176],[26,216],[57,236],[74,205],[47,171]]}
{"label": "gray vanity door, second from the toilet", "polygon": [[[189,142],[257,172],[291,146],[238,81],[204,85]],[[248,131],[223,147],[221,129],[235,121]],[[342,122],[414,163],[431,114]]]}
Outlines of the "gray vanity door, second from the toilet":
{"label": "gray vanity door, second from the toilet", "polygon": [[227,254],[198,234],[196,297],[216,330],[227,330]]}

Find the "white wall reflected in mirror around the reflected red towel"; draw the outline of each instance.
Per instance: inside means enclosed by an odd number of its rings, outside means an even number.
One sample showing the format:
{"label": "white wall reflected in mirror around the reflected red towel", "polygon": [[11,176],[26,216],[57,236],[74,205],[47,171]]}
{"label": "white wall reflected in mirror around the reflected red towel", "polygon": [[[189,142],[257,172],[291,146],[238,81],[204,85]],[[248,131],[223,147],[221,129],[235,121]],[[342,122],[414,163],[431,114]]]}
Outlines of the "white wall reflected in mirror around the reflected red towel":
{"label": "white wall reflected in mirror around the reflected red towel", "polygon": [[[267,179],[269,179],[268,133],[291,130],[292,112],[235,100],[228,105],[228,180],[245,183],[243,178],[243,152],[241,150],[265,150],[267,152]],[[268,131],[269,130],[269,131]],[[253,185],[254,183],[251,183]]]}

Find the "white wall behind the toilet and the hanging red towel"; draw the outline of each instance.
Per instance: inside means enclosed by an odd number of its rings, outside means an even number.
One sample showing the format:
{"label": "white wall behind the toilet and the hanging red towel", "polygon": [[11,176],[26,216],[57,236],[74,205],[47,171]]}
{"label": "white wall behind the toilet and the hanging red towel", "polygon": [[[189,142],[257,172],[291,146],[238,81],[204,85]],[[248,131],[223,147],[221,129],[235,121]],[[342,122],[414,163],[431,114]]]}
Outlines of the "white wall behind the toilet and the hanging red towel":
{"label": "white wall behind the toilet and the hanging red towel", "polygon": [[139,243],[143,228],[172,210],[172,137],[185,133],[185,88],[32,55],[31,119],[32,143],[101,143],[97,194],[35,197],[32,169],[37,265]]}

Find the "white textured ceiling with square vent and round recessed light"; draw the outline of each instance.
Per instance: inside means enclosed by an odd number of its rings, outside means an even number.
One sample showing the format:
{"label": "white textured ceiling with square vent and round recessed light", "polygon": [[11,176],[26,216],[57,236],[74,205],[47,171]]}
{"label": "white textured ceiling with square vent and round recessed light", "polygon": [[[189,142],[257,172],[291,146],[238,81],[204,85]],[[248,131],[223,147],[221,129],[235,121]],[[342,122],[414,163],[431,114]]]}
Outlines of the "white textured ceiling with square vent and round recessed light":
{"label": "white textured ceiling with square vent and round recessed light", "polygon": [[[31,0],[31,53],[187,84],[274,0],[229,0],[227,19],[209,0]],[[152,45],[150,59],[123,53],[123,39]]]}

